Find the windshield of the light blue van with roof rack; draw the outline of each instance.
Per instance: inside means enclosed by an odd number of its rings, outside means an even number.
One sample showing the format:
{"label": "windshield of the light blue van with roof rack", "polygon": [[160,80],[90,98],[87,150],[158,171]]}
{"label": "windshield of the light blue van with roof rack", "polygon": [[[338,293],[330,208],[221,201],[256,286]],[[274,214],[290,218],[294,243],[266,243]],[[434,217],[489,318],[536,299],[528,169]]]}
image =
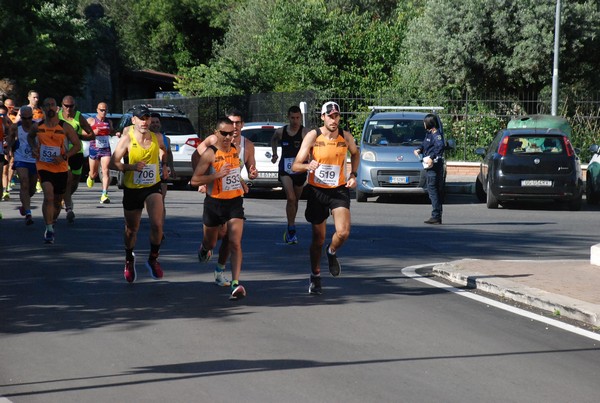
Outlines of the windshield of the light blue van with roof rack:
{"label": "windshield of the light blue van with roof rack", "polygon": [[424,138],[422,120],[372,120],[363,142],[377,146],[414,146],[420,145]]}

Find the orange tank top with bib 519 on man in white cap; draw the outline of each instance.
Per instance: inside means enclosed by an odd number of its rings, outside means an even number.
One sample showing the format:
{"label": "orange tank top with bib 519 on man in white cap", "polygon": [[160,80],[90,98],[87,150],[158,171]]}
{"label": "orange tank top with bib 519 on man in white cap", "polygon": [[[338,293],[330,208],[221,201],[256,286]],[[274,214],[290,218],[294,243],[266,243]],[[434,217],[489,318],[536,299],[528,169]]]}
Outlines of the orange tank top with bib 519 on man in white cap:
{"label": "orange tank top with bib 519 on man in white cap", "polygon": [[344,136],[340,131],[334,140],[329,140],[318,129],[317,133],[312,155],[320,165],[316,170],[308,173],[308,183],[320,188],[336,188],[345,185],[348,145]]}

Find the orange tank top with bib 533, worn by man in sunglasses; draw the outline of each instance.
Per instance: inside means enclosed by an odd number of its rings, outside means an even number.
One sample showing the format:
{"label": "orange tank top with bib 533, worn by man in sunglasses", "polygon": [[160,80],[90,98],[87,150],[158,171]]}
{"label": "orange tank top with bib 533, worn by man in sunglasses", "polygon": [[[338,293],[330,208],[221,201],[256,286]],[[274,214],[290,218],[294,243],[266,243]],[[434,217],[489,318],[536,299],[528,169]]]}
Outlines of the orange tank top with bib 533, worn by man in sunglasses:
{"label": "orange tank top with bib 533, worn by man in sunglasses", "polygon": [[244,194],[244,189],[241,183],[241,167],[240,155],[232,144],[229,151],[221,151],[215,146],[210,147],[215,153],[215,162],[210,165],[209,173],[213,174],[221,170],[223,165],[230,164],[232,166],[228,175],[215,179],[208,184],[207,194],[215,199],[234,199]]}

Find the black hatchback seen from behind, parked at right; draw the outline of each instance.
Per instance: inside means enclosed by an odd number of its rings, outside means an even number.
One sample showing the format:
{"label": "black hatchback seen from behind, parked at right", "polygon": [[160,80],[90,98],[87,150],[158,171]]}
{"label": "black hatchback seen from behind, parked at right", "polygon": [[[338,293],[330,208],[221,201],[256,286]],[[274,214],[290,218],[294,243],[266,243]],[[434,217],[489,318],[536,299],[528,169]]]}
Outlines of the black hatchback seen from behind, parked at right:
{"label": "black hatchback seen from behind, parked at right", "polygon": [[[521,127],[528,124],[527,128]],[[548,128],[557,119],[516,119],[508,129],[500,130],[486,148],[475,153],[483,160],[475,182],[475,191],[488,208],[513,200],[556,200],[580,210],[583,179],[578,150],[569,135]],[[531,127],[533,126],[533,127]]]}

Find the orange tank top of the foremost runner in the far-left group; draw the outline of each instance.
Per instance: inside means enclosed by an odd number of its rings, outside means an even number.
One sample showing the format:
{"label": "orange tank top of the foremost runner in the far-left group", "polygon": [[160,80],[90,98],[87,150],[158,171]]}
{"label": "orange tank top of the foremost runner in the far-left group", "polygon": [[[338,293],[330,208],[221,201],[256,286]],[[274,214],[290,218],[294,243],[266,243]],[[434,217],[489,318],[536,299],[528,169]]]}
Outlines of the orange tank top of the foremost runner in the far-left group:
{"label": "orange tank top of the foremost runner in the far-left group", "polygon": [[67,161],[61,161],[60,164],[54,162],[57,155],[65,155],[67,152],[67,136],[62,125],[57,124],[49,127],[46,123],[38,125],[37,133],[39,145],[39,157],[36,162],[38,171],[66,172],[69,170]]}

